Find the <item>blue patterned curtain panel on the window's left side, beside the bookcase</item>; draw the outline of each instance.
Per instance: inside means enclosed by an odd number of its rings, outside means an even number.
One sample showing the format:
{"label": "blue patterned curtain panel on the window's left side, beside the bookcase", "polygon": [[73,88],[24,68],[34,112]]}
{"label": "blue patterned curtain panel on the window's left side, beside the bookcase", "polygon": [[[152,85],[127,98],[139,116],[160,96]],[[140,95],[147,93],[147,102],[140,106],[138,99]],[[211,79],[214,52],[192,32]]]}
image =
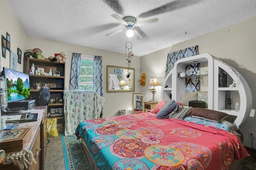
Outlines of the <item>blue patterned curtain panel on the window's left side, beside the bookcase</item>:
{"label": "blue patterned curtain panel on the window's left side, beside the bookcase", "polygon": [[72,53],[69,89],[79,89],[81,53]]}

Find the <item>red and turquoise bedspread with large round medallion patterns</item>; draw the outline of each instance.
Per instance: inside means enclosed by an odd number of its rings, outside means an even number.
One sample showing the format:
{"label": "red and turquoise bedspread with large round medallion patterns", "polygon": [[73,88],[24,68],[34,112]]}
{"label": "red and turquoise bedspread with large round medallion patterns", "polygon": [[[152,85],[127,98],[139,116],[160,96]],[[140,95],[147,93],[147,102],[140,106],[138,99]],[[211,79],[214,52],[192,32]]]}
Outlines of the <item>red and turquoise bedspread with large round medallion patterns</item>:
{"label": "red and turquoise bedspread with large round medallion patterns", "polygon": [[149,112],[86,120],[76,136],[99,170],[226,170],[249,156],[232,133]]}

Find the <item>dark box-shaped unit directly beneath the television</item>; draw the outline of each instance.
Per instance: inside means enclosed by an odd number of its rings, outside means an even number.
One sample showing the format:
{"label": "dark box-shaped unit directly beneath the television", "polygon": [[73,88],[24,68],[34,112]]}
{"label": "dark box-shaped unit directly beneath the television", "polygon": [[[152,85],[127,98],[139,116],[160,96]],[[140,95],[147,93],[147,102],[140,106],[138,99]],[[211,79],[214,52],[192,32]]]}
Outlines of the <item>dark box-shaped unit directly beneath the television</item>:
{"label": "dark box-shaped unit directly beneath the television", "polygon": [[20,100],[17,102],[11,102],[11,103],[8,103],[8,108],[9,109],[22,109],[22,110],[34,109],[35,101],[36,100],[34,100],[34,99],[27,99],[27,100]]}

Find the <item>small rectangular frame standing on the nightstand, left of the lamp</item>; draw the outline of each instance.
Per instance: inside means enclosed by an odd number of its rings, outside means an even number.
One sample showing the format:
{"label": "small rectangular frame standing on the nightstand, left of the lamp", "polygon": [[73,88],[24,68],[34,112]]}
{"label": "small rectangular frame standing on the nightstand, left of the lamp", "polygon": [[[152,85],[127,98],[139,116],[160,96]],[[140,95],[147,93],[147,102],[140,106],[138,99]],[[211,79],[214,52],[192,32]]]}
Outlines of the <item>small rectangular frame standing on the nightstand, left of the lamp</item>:
{"label": "small rectangular frame standing on the nightstand, left of the lamp", "polygon": [[143,93],[133,93],[132,94],[132,113],[143,113],[144,106],[143,106]]}

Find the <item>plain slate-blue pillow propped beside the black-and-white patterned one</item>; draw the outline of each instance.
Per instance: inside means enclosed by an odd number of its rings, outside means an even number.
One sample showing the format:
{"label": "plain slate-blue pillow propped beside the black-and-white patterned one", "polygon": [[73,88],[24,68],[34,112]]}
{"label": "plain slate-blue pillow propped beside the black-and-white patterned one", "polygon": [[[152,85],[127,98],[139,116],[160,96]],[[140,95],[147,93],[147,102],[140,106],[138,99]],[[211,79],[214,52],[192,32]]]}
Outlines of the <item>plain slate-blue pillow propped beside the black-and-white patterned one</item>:
{"label": "plain slate-blue pillow propped beside the black-and-white patterned one", "polygon": [[178,104],[175,100],[168,100],[168,102],[158,111],[156,118],[166,119],[171,111],[177,111]]}

